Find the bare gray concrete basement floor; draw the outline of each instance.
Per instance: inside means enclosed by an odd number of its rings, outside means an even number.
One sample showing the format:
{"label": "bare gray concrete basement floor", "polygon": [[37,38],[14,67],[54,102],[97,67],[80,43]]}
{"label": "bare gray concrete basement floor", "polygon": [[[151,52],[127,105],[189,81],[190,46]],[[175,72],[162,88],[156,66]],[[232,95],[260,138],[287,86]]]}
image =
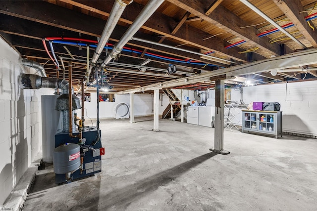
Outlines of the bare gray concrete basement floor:
{"label": "bare gray concrete basement floor", "polygon": [[102,172],[58,186],[40,170],[23,210],[317,210],[316,139],[225,130],[217,155],[213,128],[142,120],[102,120]]}

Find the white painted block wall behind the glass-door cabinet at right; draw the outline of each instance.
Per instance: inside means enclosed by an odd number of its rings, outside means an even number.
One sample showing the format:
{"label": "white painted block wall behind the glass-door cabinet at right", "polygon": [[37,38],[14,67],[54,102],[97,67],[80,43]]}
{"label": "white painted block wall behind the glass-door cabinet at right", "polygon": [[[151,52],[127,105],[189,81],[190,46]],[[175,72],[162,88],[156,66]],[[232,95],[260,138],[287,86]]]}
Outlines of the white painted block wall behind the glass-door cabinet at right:
{"label": "white painted block wall behind the glass-door cabinet at right", "polygon": [[[240,92],[233,90],[231,99],[239,101]],[[283,131],[317,135],[317,81],[244,87],[243,99],[246,104],[279,102]]]}

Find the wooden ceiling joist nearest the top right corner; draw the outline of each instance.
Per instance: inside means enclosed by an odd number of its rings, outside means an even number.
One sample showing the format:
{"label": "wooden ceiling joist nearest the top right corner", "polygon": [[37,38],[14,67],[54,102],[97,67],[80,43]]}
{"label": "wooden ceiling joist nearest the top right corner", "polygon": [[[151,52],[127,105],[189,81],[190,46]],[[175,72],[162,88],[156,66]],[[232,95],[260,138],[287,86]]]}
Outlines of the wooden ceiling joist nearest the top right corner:
{"label": "wooden ceiling joist nearest the top right corner", "polygon": [[[304,35],[304,37],[313,45],[317,47],[317,34],[310,28],[305,19],[305,13],[301,1],[299,0],[273,0],[274,3],[282,10],[282,12],[290,19],[296,28]],[[314,26],[314,24],[312,24]]]}

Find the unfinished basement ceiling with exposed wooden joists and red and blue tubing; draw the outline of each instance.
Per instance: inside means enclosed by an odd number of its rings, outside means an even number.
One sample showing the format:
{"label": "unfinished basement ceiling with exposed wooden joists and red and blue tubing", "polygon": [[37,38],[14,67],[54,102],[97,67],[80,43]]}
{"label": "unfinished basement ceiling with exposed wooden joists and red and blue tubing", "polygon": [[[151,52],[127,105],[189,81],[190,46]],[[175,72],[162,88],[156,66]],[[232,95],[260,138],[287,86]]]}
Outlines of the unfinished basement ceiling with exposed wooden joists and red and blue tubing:
{"label": "unfinished basement ceiling with exposed wooden joists and red and blue tubing", "polygon": [[[133,0],[126,6],[110,35],[108,49],[99,57],[100,62],[148,2]],[[59,64],[60,57],[63,60],[66,79],[68,62],[72,61],[76,88],[87,71],[87,46],[91,59],[113,3],[111,0],[0,1],[0,34],[22,57],[43,64],[48,77],[56,78],[58,73],[58,78],[62,78],[62,66],[56,69],[43,39],[53,56],[52,44]],[[248,3],[264,15],[251,9]],[[316,7],[315,0],[165,0],[133,36],[137,39],[130,40],[118,57],[106,65],[105,81],[113,86],[111,91],[117,92],[317,48]],[[264,19],[265,15],[289,36]],[[151,61],[140,66],[147,59]],[[176,73],[167,73],[170,65],[176,66]],[[315,80],[316,67],[313,64],[274,73],[257,72],[240,78],[252,79],[255,84]],[[94,80],[93,75],[90,80]],[[179,87],[212,86],[195,83]]]}

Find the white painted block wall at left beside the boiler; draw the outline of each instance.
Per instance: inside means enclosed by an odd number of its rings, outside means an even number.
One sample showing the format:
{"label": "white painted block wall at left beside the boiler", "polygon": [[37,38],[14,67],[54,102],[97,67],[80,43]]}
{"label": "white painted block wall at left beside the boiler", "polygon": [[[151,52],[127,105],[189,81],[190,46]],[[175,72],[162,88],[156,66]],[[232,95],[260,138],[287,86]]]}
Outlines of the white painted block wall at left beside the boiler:
{"label": "white painted block wall at left beside the boiler", "polygon": [[41,95],[53,89],[21,90],[20,73],[34,74],[0,38],[0,205],[42,148]]}

